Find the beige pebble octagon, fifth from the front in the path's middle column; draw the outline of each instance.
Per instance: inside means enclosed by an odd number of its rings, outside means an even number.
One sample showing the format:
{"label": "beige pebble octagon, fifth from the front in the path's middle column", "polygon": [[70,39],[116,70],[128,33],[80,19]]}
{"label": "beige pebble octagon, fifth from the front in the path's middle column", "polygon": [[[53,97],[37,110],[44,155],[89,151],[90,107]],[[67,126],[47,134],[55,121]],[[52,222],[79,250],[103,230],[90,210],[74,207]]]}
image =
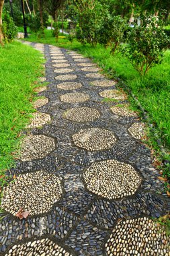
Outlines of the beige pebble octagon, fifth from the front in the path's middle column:
{"label": "beige pebble octagon, fifth from the front in the path's middle column", "polygon": [[60,100],[67,103],[85,102],[86,100],[89,100],[89,98],[89,94],[83,92],[73,92],[60,96]]}

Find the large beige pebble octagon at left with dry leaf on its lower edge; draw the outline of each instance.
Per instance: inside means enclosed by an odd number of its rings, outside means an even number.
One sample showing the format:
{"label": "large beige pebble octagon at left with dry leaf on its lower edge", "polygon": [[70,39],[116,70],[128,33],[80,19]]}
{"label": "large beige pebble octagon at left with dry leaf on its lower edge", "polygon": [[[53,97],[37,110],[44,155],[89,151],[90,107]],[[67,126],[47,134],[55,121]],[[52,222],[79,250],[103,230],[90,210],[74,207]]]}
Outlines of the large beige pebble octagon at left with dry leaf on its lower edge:
{"label": "large beige pebble octagon at left with dry leaf on its lower edge", "polygon": [[14,216],[22,208],[29,216],[48,212],[60,199],[62,187],[56,174],[45,171],[20,174],[3,189],[1,207]]}

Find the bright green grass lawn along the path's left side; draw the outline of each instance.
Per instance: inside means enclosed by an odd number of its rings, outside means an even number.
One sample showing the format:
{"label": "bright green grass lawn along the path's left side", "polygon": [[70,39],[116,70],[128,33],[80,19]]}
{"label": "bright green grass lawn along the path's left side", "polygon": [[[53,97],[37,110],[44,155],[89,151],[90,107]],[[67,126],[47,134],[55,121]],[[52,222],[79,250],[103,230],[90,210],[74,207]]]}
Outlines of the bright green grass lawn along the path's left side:
{"label": "bright green grass lawn along the path's left side", "polygon": [[34,111],[31,85],[44,70],[40,57],[38,51],[19,42],[0,46],[0,176],[13,166],[19,132]]}

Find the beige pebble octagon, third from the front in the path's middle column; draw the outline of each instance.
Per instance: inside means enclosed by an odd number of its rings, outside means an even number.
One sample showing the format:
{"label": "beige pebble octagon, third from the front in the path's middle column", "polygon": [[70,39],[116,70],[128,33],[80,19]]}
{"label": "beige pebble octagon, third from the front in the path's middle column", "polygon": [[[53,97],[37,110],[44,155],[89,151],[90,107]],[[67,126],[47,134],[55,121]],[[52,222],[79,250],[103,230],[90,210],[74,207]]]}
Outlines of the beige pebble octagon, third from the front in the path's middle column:
{"label": "beige pebble octagon, third from the front in the path's middle column", "polygon": [[76,146],[85,150],[105,150],[111,148],[116,141],[112,131],[100,128],[81,129],[73,135]]}

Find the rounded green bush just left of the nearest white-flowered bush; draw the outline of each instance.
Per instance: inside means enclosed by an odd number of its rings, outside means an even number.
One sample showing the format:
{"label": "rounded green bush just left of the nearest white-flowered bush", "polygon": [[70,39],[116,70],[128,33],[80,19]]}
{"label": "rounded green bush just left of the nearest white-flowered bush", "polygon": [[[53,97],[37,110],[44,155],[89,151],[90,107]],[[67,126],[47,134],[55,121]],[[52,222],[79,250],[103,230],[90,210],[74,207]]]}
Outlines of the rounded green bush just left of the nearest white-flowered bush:
{"label": "rounded green bush just left of the nearest white-flowered bush", "polygon": [[120,15],[113,18],[108,15],[99,29],[99,43],[105,48],[109,46],[112,53],[115,53],[120,43],[124,41],[126,28],[126,22]]}

